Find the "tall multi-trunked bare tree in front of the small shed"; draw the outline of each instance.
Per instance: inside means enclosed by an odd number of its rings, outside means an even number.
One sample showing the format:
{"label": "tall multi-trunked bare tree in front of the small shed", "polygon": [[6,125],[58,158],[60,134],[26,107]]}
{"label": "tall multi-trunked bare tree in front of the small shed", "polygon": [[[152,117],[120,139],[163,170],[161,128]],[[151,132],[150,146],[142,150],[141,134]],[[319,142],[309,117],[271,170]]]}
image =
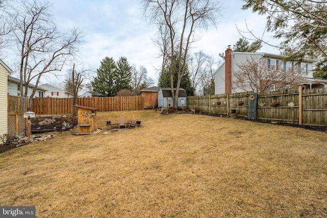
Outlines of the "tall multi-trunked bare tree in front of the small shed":
{"label": "tall multi-trunked bare tree in front of the small shed", "polygon": [[[186,57],[191,44],[196,41],[197,29],[206,29],[216,25],[219,17],[219,2],[213,0],[143,0],[145,14],[151,23],[165,32],[169,37],[169,49],[166,57],[170,61],[171,92],[177,107],[180,82],[185,74]],[[167,36],[167,37],[166,37]],[[167,41],[165,41],[167,42]],[[176,67],[177,63],[178,68]],[[163,70],[164,68],[162,68]],[[177,74],[176,91],[174,91],[174,74]]]}

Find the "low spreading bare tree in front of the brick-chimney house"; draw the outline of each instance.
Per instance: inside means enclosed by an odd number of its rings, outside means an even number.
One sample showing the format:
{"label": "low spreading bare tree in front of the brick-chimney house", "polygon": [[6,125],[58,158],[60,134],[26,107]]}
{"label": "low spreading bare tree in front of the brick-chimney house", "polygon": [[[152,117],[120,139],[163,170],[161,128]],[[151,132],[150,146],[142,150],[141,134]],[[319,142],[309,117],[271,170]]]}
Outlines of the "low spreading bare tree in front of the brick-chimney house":
{"label": "low spreading bare tree in front of the brick-chimney house", "polygon": [[[238,70],[233,72],[232,89],[244,91],[257,90],[266,91],[269,86],[285,85],[297,86],[304,81],[304,72],[299,72],[297,67],[287,71],[281,68],[267,67],[267,61],[257,58],[247,58],[242,64],[237,64]],[[295,69],[296,68],[296,69]]]}

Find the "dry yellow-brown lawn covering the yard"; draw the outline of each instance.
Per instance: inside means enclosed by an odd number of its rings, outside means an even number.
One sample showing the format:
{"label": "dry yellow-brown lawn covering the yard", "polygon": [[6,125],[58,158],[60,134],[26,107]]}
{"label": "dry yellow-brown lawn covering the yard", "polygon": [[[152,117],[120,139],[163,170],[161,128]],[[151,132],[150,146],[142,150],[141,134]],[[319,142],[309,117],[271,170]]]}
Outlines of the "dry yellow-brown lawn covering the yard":
{"label": "dry yellow-brown lawn covering the yard", "polygon": [[[152,110],[0,154],[0,205],[37,217],[326,217],[327,134]],[[133,116],[141,128],[103,134]],[[76,130],[73,130],[73,132]]]}

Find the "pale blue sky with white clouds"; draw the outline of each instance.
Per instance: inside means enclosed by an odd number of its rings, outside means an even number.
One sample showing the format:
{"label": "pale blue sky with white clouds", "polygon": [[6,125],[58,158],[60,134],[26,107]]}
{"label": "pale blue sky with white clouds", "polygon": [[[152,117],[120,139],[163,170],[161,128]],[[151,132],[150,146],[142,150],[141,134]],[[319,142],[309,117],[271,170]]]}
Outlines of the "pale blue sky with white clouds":
{"label": "pale blue sky with white clouds", "polygon": [[[256,35],[263,34],[265,17],[241,10],[244,4],[241,0],[220,2],[222,18],[217,28],[198,33],[201,39],[193,44],[192,53],[202,50],[218,60],[218,54],[224,52],[227,45],[233,45],[241,38],[236,25],[246,31],[247,23]],[[153,78],[154,85],[157,85],[156,68],[160,66],[161,59],[151,40],[156,30],[144,19],[139,0],[55,0],[52,13],[59,30],[72,27],[83,30],[85,44],[81,58],[86,66],[97,69],[106,56],[115,61],[125,56],[130,64],[145,66],[148,77]],[[272,41],[268,34],[265,39]],[[263,46],[261,52],[279,53],[267,45]],[[46,80],[43,79],[42,82],[51,82]]]}

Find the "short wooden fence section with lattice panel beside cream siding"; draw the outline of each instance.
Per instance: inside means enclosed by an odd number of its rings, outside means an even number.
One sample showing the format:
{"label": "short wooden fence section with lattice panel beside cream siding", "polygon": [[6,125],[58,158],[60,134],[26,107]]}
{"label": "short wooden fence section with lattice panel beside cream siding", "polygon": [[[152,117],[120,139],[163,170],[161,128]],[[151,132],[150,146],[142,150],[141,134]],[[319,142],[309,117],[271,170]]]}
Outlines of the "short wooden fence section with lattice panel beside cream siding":
{"label": "short wooden fence section with lattice panel beside cream siding", "polygon": [[8,95],[8,136],[12,138],[16,133],[26,136],[26,118],[24,113],[28,111],[29,98]]}

